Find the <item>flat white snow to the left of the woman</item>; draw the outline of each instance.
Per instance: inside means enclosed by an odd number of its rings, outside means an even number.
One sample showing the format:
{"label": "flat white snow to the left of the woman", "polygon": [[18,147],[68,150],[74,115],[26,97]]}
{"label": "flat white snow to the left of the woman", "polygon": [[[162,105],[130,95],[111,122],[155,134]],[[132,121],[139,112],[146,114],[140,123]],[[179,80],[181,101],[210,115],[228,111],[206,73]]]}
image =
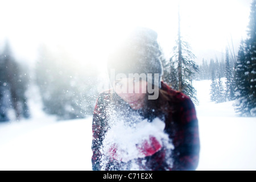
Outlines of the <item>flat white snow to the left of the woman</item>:
{"label": "flat white snow to the left of the woman", "polygon": [[44,126],[37,121],[0,125],[1,140],[27,130],[0,144],[0,170],[91,170],[91,128],[92,117]]}

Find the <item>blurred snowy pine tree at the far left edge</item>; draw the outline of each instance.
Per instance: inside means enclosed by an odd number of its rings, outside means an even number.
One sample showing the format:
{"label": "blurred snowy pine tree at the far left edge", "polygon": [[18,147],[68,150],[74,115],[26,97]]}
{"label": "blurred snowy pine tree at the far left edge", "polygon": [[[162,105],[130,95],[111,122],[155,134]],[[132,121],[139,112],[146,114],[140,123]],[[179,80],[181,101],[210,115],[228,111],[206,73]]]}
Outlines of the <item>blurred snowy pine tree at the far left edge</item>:
{"label": "blurred snowy pine tree at the far left edge", "polygon": [[[27,98],[25,92],[27,90],[28,78],[27,73],[22,71],[22,67],[18,64],[11,52],[9,42],[5,43],[1,57],[1,78],[0,78],[0,105],[4,104],[2,111],[12,108],[15,111],[16,119],[28,118],[30,113],[27,106]],[[2,118],[7,118],[6,113],[2,113]]]}

